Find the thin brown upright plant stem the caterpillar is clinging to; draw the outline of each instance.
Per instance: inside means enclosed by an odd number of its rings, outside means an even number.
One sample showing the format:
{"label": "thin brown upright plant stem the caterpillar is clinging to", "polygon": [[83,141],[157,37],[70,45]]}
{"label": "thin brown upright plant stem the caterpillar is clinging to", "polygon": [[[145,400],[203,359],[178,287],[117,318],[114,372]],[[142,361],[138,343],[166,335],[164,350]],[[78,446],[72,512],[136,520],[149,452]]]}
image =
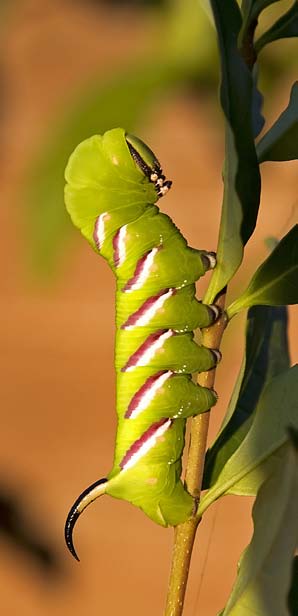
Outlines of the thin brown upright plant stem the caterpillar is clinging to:
{"label": "thin brown upright plant stem the caterpillar is clinging to", "polygon": [[[212,325],[203,330],[202,344],[208,348],[219,349],[221,338],[226,326],[224,313],[226,289],[216,299],[216,305],[221,309],[222,316]],[[213,387],[216,368],[201,372],[198,384],[203,387]],[[190,567],[193,544],[196,536],[199,518],[196,510],[200,498],[210,411],[201,413],[191,421],[190,446],[185,474],[185,484],[188,492],[195,499],[193,516],[175,528],[172,567],[168,588],[165,616],[181,616],[183,614],[184,597],[188,572]]]}

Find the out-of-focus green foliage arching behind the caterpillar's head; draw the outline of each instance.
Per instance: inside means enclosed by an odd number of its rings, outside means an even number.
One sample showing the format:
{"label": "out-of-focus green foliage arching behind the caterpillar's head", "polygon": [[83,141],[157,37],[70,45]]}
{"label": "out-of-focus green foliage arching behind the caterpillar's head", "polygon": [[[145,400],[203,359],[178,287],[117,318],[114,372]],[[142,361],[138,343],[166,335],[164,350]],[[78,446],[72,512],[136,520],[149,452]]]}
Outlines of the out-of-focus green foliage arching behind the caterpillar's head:
{"label": "out-of-focus green foliage arching behind the caterpillar's head", "polygon": [[[147,3],[134,3],[139,11],[144,9],[144,4]],[[25,187],[20,191],[27,226],[28,262],[43,279],[55,272],[62,253],[69,249],[67,239],[72,230],[63,204],[63,173],[68,156],[79,141],[113,126],[136,132],[161,97],[174,98],[181,89],[194,92],[199,88],[201,95],[209,91],[210,113],[214,112],[218,77],[216,37],[203,4],[199,0],[150,3],[150,19],[153,15],[156,22],[150,49],[130,61],[126,71],[114,71],[105,79],[95,74],[91,83],[69,99],[60,117],[49,126],[39,151],[29,162]],[[287,2],[281,4],[288,6]],[[116,7],[117,3],[113,3],[111,19]],[[144,20],[147,9],[148,6]],[[275,13],[271,11],[261,20],[260,32],[272,23],[274,15],[280,14],[278,10],[275,4]],[[273,49],[274,45],[269,48]],[[285,68],[290,71],[291,64],[295,63],[295,58],[284,54],[282,48],[278,54],[270,50],[267,54],[266,48],[261,60],[266,87],[274,83],[270,79],[273,67],[275,73],[281,70],[284,73]]]}

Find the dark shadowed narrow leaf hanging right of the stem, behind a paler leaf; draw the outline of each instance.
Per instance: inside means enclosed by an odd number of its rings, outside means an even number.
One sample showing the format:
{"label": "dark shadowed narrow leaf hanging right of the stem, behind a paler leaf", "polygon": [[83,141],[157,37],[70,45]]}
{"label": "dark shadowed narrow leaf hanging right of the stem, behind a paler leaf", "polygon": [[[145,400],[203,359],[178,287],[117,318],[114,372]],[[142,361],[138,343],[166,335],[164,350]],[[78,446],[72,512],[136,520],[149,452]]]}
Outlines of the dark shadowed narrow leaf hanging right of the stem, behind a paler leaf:
{"label": "dark shadowed narrow leaf hanging right of the stem, behind a paler leaf", "polygon": [[244,361],[224,423],[207,451],[203,489],[215,483],[248,433],[265,384],[289,368],[287,326],[287,309],[284,306],[255,306],[248,311]]}

